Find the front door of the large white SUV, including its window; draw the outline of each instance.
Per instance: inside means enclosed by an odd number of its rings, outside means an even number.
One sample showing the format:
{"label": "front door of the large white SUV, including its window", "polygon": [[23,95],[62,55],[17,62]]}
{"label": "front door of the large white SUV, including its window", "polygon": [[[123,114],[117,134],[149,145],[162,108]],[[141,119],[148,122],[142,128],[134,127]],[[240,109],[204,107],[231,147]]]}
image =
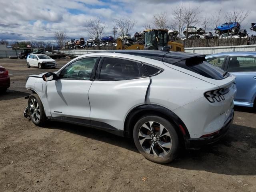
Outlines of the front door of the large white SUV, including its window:
{"label": "front door of the large white SUV, including its window", "polygon": [[79,58],[58,72],[58,80],[47,82],[46,98],[52,117],[90,120],[88,90],[92,84],[94,66],[99,59]]}

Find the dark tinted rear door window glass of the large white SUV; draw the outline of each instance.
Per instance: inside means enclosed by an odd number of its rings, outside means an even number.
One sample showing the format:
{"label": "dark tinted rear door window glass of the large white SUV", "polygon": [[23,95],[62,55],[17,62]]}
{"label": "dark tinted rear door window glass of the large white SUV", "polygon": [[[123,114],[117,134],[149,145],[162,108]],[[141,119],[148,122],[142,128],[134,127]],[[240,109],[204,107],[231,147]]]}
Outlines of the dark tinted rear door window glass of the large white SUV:
{"label": "dark tinted rear door window glass of the large white SUV", "polygon": [[140,62],[118,58],[104,58],[100,80],[128,80],[147,76]]}

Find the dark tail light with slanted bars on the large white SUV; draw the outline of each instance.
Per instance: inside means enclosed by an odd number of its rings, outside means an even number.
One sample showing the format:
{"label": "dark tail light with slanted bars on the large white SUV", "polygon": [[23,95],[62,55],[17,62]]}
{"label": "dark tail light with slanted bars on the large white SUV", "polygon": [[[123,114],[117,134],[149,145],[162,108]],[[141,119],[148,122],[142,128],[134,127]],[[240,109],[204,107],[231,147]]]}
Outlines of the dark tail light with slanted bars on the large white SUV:
{"label": "dark tail light with slanted bars on the large white SUV", "polygon": [[229,87],[220,88],[212,91],[208,91],[204,93],[204,96],[210,103],[214,103],[215,101],[220,102],[221,100],[225,100],[224,95],[229,92]]}

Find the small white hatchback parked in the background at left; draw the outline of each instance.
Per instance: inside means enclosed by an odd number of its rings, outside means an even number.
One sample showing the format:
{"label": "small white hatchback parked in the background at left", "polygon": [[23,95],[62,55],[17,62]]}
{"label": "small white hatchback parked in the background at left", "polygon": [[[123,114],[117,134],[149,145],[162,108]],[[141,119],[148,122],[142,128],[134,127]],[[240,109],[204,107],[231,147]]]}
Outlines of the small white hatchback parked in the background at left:
{"label": "small white hatchback parked in the background at left", "polygon": [[45,67],[56,68],[56,61],[47,55],[42,54],[31,54],[27,57],[27,67],[31,66],[38,67],[40,69]]}

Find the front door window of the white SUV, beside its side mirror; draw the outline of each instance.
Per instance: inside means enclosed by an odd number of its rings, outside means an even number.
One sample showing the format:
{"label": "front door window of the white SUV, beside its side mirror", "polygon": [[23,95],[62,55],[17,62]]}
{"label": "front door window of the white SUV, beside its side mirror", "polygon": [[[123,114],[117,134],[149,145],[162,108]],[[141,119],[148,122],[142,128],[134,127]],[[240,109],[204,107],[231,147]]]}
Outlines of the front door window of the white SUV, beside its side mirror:
{"label": "front door window of the white SUV, beside its side mirror", "polygon": [[89,80],[97,59],[98,57],[76,60],[61,71],[60,78]]}

